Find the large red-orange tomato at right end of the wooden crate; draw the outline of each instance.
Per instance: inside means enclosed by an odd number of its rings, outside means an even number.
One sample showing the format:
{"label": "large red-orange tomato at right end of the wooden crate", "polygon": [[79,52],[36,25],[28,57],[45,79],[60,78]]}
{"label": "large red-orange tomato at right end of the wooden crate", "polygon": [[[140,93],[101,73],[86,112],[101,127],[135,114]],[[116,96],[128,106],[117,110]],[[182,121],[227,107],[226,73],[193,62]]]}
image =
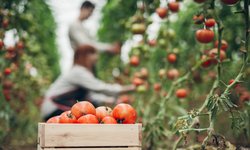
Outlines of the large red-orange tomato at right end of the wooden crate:
{"label": "large red-orange tomato at right end of the wooden crate", "polygon": [[135,109],[131,105],[124,103],[116,105],[112,115],[118,123],[123,124],[133,124],[137,117]]}

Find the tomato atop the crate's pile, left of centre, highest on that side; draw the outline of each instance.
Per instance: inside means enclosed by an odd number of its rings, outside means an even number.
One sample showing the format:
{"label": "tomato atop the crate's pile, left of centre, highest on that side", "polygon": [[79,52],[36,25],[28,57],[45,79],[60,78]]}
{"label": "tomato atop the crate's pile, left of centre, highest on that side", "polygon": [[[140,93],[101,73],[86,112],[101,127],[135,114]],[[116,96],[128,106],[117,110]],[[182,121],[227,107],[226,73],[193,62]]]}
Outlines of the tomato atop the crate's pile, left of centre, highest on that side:
{"label": "tomato atop the crate's pile, left of centre, highest on that side", "polygon": [[83,115],[96,114],[94,105],[88,101],[77,102],[72,106],[71,112],[77,119]]}

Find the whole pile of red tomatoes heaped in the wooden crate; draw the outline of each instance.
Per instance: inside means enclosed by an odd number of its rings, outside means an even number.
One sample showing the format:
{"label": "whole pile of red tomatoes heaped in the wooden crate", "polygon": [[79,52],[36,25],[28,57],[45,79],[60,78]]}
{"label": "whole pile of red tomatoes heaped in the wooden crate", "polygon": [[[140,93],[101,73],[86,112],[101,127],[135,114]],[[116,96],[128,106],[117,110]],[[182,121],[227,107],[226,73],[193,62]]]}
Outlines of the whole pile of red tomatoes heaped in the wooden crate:
{"label": "whole pile of red tomatoes heaped in the wooden crate", "polygon": [[95,108],[92,103],[81,101],[74,104],[71,110],[51,117],[46,123],[134,124],[136,119],[137,112],[129,104],[118,104],[112,110],[107,106]]}

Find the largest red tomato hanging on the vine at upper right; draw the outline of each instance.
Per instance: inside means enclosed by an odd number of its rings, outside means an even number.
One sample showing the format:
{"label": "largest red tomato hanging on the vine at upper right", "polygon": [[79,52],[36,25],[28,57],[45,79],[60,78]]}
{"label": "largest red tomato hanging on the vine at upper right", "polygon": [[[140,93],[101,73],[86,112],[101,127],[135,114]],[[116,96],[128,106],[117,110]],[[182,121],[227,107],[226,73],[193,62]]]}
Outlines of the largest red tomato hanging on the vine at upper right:
{"label": "largest red tomato hanging on the vine at upper right", "polygon": [[201,43],[209,43],[214,39],[214,32],[208,29],[197,30],[196,39]]}

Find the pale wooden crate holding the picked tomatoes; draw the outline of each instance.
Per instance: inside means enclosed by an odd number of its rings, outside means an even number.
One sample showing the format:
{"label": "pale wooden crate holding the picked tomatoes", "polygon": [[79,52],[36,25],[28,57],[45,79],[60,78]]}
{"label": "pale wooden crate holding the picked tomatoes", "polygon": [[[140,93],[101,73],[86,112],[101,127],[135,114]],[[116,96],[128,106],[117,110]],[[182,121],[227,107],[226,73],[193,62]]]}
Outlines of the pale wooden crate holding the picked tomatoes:
{"label": "pale wooden crate holding the picked tomatoes", "polygon": [[38,150],[141,150],[141,124],[38,124]]}

